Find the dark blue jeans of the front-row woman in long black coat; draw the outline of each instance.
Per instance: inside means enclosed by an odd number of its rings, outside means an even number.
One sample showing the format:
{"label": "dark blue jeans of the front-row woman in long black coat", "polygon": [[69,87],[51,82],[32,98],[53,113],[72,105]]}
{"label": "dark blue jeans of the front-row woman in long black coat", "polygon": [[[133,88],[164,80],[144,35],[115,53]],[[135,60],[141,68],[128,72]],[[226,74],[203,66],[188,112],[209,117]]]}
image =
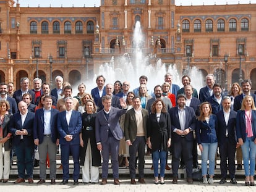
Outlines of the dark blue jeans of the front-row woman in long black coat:
{"label": "dark blue jeans of the front-row woman in long black coat", "polygon": [[166,151],[156,150],[153,153],[154,177],[158,177],[158,161],[160,159],[160,177],[164,177]]}

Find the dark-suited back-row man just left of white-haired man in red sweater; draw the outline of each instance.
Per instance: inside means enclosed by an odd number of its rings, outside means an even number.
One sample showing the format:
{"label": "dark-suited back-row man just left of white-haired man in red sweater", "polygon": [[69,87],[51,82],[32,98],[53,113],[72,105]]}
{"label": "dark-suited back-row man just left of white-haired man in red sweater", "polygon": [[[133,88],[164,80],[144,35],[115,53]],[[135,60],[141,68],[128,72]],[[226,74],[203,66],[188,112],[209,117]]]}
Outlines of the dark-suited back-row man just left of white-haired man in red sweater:
{"label": "dark-suited back-row man just left of white-haired man in red sweater", "polygon": [[20,78],[20,90],[14,91],[12,98],[15,99],[17,104],[22,101],[22,96],[25,93],[29,93],[32,96],[32,104],[35,104],[35,92],[29,90],[29,79],[27,77]]}

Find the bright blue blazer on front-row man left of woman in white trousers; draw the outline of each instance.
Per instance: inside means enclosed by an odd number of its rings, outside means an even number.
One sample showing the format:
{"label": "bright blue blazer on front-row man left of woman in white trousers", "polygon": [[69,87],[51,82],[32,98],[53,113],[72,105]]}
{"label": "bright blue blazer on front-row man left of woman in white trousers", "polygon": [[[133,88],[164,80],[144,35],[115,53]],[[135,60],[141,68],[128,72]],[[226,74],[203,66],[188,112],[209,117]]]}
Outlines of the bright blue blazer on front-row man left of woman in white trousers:
{"label": "bright blue blazer on front-row man left of woman in white trousers", "polygon": [[[66,111],[59,112],[57,118],[57,129],[59,131],[60,144],[79,144],[79,133],[82,129],[82,117],[80,112],[72,110],[69,125],[67,125]],[[66,135],[72,135],[71,141],[66,141]]]}

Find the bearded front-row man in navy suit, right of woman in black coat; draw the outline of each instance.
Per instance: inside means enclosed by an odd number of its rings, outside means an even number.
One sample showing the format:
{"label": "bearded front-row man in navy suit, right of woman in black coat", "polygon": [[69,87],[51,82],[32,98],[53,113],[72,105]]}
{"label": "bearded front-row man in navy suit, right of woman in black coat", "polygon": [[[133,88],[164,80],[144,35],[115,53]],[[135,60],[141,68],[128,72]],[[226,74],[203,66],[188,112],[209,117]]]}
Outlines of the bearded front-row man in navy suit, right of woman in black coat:
{"label": "bearded front-row man in navy suit, right of woman in black coat", "polygon": [[192,148],[193,148],[193,130],[195,130],[195,112],[192,107],[186,106],[186,96],[179,94],[177,96],[177,106],[169,109],[171,117],[171,129],[173,140],[173,184],[177,184],[177,172],[179,169],[179,159],[183,156],[187,182],[193,183],[192,170]]}

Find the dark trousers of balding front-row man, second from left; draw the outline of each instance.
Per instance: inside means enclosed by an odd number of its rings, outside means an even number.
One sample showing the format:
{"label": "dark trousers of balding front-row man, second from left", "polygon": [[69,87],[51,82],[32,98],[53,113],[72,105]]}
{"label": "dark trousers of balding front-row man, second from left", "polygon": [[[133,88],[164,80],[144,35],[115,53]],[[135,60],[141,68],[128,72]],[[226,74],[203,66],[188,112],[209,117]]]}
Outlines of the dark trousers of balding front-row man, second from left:
{"label": "dark trousers of balding front-row man, second from left", "polygon": [[23,141],[19,143],[19,146],[15,146],[20,178],[33,178],[34,148],[34,144],[25,146]]}

